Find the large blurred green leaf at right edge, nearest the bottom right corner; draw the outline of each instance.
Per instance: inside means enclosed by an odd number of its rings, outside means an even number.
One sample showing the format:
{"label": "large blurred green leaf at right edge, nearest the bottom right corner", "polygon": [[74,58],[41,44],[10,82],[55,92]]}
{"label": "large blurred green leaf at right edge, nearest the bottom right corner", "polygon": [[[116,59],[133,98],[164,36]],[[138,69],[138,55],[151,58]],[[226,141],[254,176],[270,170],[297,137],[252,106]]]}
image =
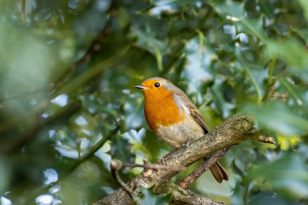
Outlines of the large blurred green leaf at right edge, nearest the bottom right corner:
{"label": "large blurred green leaf at right edge, nearest the bottom right corner", "polygon": [[275,190],[288,197],[308,197],[308,169],[305,160],[298,154],[280,158],[267,165],[255,166],[247,177],[263,178],[271,183]]}

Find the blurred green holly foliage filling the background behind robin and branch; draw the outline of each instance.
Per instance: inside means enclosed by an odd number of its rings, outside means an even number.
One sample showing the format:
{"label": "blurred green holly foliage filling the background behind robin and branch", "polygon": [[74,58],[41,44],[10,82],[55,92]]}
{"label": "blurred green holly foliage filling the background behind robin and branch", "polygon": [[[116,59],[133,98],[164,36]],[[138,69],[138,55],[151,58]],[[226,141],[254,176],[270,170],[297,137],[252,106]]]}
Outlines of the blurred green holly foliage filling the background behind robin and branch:
{"label": "blurred green holly foliage filling the background behind robin and branch", "polygon": [[205,173],[189,189],[236,205],[307,204],[307,20],[307,0],[1,0],[0,204],[90,204],[118,188],[111,159],[170,151],[133,88],[153,76],[182,88],[210,128],[249,112],[279,143],[232,147],[220,160],[229,182]]}

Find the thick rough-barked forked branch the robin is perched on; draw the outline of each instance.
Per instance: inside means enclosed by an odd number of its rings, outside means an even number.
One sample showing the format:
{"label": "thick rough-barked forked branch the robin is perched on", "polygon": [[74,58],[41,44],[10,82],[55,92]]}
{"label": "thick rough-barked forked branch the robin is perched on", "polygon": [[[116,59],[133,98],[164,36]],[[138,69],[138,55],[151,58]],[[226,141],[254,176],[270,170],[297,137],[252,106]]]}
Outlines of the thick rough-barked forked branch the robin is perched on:
{"label": "thick rough-barked forked branch the robin is perched on", "polygon": [[[165,158],[167,166],[189,166],[192,163],[216,152],[222,148],[238,145],[248,139],[255,139],[256,132],[253,127],[253,117],[250,115],[235,115],[222,124],[218,125],[212,132],[204,137],[191,143],[187,148],[181,148]],[[149,188],[156,184],[154,188],[155,194],[173,193],[173,204],[193,204],[193,205],[218,205],[210,199],[204,198],[198,194],[182,189],[178,185],[172,184],[169,180],[178,174],[176,171],[166,170],[145,170],[139,176],[136,176],[126,185],[135,190],[138,186]],[[205,202],[206,201],[206,202]],[[133,205],[131,196],[119,188],[108,197],[92,204],[125,204]]]}

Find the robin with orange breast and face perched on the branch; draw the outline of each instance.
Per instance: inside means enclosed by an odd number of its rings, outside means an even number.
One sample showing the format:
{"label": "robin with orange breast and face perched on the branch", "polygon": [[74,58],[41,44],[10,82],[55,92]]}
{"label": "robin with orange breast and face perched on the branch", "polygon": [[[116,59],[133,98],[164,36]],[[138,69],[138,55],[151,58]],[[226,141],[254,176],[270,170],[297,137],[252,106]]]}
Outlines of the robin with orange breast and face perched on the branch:
{"label": "robin with orange breast and face perched on the branch", "polygon": [[[168,145],[187,146],[210,132],[197,107],[170,81],[154,77],[135,88],[143,91],[144,114],[150,128]],[[218,162],[210,170],[218,183],[229,180],[226,170]]]}

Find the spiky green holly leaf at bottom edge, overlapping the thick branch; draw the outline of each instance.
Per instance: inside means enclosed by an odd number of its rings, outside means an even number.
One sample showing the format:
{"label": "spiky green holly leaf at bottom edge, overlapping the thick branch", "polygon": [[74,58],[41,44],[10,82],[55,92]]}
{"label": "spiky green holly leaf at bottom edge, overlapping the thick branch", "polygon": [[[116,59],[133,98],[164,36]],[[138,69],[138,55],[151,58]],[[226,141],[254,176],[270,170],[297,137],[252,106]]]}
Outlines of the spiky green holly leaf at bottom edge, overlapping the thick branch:
{"label": "spiky green holly leaf at bottom edge, overlapping the thick branch", "polygon": [[139,187],[142,194],[132,195],[136,205],[171,205],[171,193],[155,195],[153,193],[154,186],[149,189]]}

